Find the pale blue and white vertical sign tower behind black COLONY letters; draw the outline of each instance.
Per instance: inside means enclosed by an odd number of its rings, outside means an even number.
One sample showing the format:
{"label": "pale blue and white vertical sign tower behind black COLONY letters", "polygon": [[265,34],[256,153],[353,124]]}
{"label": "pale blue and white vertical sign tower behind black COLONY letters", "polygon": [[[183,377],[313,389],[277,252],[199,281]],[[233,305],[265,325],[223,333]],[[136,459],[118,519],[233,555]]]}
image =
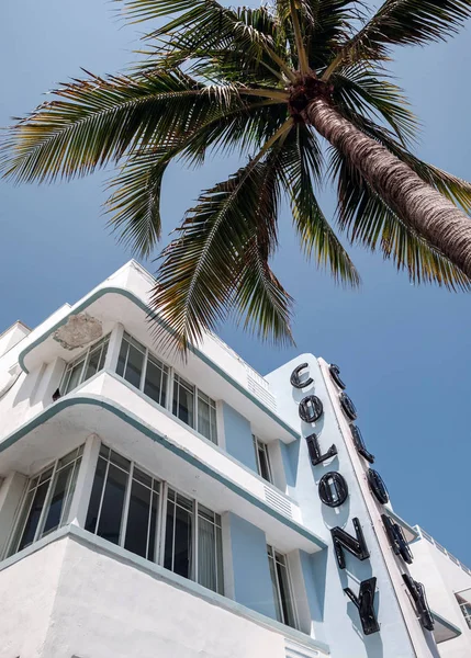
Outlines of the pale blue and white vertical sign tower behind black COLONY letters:
{"label": "pale blue and white vertical sign tower behind black COLONY letters", "polygon": [[[309,375],[314,383],[309,388],[299,390],[290,385],[290,375],[293,368],[303,362],[309,363]],[[346,444],[341,412],[338,407],[334,407],[335,395],[329,389],[329,383],[327,384],[323,376],[319,363],[312,354],[302,354],[270,373],[266,378],[277,395],[278,410],[287,422],[292,427],[300,428],[303,436],[315,432],[319,438],[323,451],[327,451],[333,443],[338,450],[336,457],[314,467],[311,465],[304,439],[283,451],[287,474],[291,476],[291,483],[288,483],[289,490],[300,504],[303,522],[307,527],[315,529],[315,532],[329,546],[328,551],[312,556],[312,566],[324,633],[333,656],[335,658],[346,656],[355,658],[363,656],[368,658],[437,656],[436,649],[433,647],[433,639],[426,637],[422,632],[408,600],[405,599],[403,610],[399,602],[392,578],[394,577],[399,583],[401,574],[394,564],[386,568],[385,558],[391,561],[391,549],[388,547],[388,554],[384,553],[378,538],[383,531],[381,527],[377,526],[378,530],[375,530],[372,526],[372,512],[367,504],[367,497],[371,497],[371,495],[368,488],[366,490],[362,488],[365,483],[356,470]],[[317,422],[307,424],[301,421],[298,408],[302,398],[311,394],[321,398],[324,413]],[[335,509],[323,504],[318,497],[318,481],[328,470],[339,472],[347,480],[349,488],[347,501]],[[287,480],[289,476],[287,476]],[[359,561],[346,553],[347,568],[340,570],[332,549],[329,530],[338,525],[355,534],[351,523],[351,519],[355,517],[360,520],[371,557],[368,560]],[[394,575],[393,569],[396,570]],[[378,579],[375,605],[381,631],[365,636],[358,611],[344,593],[344,588],[350,587],[354,592],[358,593],[358,583],[372,576]],[[405,593],[401,593],[405,598]],[[404,623],[404,614],[408,615],[410,623],[416,626],[417,638],[415,640],[418,649],[412,643],[410,632]]]}

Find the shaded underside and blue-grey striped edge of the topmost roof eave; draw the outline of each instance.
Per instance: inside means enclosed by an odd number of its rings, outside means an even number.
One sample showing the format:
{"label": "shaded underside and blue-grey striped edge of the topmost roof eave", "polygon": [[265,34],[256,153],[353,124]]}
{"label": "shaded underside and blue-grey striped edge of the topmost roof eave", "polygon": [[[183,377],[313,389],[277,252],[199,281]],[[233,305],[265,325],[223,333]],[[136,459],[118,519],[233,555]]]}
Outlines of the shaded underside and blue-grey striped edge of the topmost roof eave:
{"label": "shaded underside and blue-grey striped edge of the topmost roof eave", "polygon": [[[144,342],[149,341],[148,322],[146,320],[154,317],[161,322],[143,298],[131,290],[120,286],[103,286],[67,309],[67,313],[58,321],[47,327],[41,336],[25,345],[19,354],[21,368],[29,373],[56,358],[68,361],[78,354],[80,349],[66,350],[54,339],[54,334],[67,324],[71,316],[83,311],[101,321],[103,333],[110,331],[115,322],[122,321],[133,334],[136,334],[138,340]],[[143,332],[143,330],[146,333],[141,336],[138,332]],[[168,328],[168,331],[171,332],[171,329]],[[269,438],[280,439],[285,443],[300,439],[300,433],[284,422],[262,399],[250,393],[243,381],[232,376],[221,364],[213,361],[199,348],[190,345],[189,352],[186,372],[191,377],[192,371],[194,371],[195,376],[193,379],[197,385],[197,375],[205,382],[205,393],[208,395],[215,399],[223,398],[243,416],[250,418],[256,432],[261,431],[263,435],[268,434]],[[167,362],[170,362],[171,359],[177,362],[175,354],[166,354],[164,359]],[[235,362],[233,358],[231,358],[231,361]],[[173,363],[170,363],[170,365],[173,365]],[[234,368],[236,365],[239,364],[234,363]],[[244,374],[246,375],[245,371]],[[247,376],[245,379],[247,382]]]}

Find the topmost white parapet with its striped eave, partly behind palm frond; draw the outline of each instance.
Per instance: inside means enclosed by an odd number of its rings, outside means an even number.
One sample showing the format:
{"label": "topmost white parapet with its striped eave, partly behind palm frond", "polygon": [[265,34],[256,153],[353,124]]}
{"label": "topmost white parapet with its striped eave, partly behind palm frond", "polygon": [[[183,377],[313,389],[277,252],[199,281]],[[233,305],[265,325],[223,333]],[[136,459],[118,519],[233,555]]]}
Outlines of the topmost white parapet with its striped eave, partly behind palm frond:
{"label": "topmost white parapet with its striped eave, partly behind palm frond", "polygon": [[[214,399],[224,399],[228,405],[249,419],[255,433],[267,441],[281,440],[291,443],[299,432],[276,412],[276,399],[268,383],[238,358],[216,337],[208,334],[201,345],[191,347],[188,360],[168,349],[154,345],[149,331],[147,306],[149,276],[136,263],[128,263],[72,307],[64,307],[55,314],[54,321],[44,324],[43,329],[29,337],[19,355],[22,370],[36,371],[55,359],[70,361],[83,345],[64,340],[64,332],[78,318],[92,319],[104,336],[116,322],[144,344],[152,345],[156,355],[177,370],[183,366],[184,374],[197,386]],[[71,333],[70,333],[71,336]]]}

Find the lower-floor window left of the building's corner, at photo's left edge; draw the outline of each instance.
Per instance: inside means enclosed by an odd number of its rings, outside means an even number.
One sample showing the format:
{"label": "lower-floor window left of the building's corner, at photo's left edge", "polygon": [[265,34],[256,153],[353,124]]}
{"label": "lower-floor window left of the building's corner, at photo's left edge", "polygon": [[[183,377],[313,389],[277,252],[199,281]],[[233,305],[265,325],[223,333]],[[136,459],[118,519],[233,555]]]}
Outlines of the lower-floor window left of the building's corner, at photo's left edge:
{"label": "lower-floor window left of the building's corner, at photo's left edge", "polygon": [[83,446],[31,478],[10,544],[13,555],[67,522]]}

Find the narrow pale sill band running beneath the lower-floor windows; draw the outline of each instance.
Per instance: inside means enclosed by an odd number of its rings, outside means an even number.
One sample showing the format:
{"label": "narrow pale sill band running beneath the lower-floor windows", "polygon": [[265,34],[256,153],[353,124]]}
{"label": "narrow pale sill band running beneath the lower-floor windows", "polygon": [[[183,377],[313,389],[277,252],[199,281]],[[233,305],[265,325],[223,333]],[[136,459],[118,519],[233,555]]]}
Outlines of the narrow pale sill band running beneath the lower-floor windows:
{"label": "narrow pale sill band running beneath the lower-floor windows", "polygon": [[260,614],[259,612],[250,610],[246,605],[242,605],[240,603],[237,603],[232,599],[223,597],[222,594],[217,594],[216,592],[213,592],[202,587],[201,585],[193,582],[192,580],[182,578],[181,576],[178,576],[177,574],[173,574],[172,571],[169,571],[168,569],[165,569],[164,567],[156,565],[155,563],[144,559],[143,557],[135,555],[134,553],[131,553],[130,551],[126,551],[121,546],[116,546],[115,544],[106,542],[105,540],[102,540],[101,537],[90,532],[87,532],[86,530],[74,524],[65,525],[59,530],[56,530],[55,532],[51,533],[49,535],[43,537],[38,542],[32,544],[27,548],[20,551],[20,553],[8,557],[7,559],[0,563],[0,571],[7,569],[11,565],[22,559],[25,559],[29,555],[41,551],[48,544],[52,544],[53,542],[57,542],[65,537],[68,537],[71,541],[78,542],[96,551],[100,551],[101,553],[105,553],[106,555],[115,559],[126,561],[127,564],[142,571],[150,574],[154,578],[157,578],[173,587],[177,587],[178,589],[181,589],[191,595],[203,599],[208,603],[217,605],[218,608],[223,608],[224,610],[227,610],[228,612],[232,612],[237,616],[249,620],[258,624],[259,626],[263,626],[269,631],[273,631],[274,633],[283,635],[287,640],[291,640],[307,649],[310,651],[310,656],[326,657],[330,654],[329,647],[325,643],[316,640],[313,637],[310,637],[309,635],[302,633],[301,631],[296,631],[295,628],[291,628],[290,626],[280,624],[276,620],[272,620],[268,616]]}

